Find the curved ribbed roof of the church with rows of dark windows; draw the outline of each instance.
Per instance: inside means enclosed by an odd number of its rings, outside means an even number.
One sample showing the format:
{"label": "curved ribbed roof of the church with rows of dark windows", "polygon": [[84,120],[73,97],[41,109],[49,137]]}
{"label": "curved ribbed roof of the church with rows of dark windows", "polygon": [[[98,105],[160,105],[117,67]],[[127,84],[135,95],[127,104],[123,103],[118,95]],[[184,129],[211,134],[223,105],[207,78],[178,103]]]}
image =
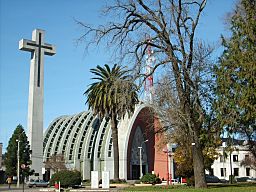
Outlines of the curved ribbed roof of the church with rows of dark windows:
{"label": "curved ribbed roof of the church with rows of dark windows", "polygon": [[[109,134],[109,120],[99,120],[92,112],[81,112],[71,116],[61,116],[52,121],[44,133],[43,159],[63,154],[66,162],[100,158],[103,147],[109,148],[111,157],[112,139]],[[107,145],[107,146],[106,146]]]}

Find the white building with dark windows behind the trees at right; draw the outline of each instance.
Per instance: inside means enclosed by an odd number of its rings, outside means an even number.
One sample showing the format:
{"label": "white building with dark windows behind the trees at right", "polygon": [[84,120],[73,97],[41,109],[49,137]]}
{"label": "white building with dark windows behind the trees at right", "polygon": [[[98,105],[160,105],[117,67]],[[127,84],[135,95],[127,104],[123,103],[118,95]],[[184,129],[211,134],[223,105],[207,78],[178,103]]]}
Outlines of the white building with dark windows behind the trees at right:
{"label": "white building with dark windows behind the trees at right", "polygon": [[219,179],[229,180],[229,175],[239,177],[254,177],[256,178],[256,171],[250,167],[244,167],[241,165],[241,161],[245,158],[249,158],[252,154],[248,151],[245,145],[236,143],[234,151],[229,154],[225,154],[226,143],[223,142],[222,146],[219,147],[218,153],[220,154],[218,159],[216,159],[211,166],[212,170],[210,171],[211,175],[217,176]]}

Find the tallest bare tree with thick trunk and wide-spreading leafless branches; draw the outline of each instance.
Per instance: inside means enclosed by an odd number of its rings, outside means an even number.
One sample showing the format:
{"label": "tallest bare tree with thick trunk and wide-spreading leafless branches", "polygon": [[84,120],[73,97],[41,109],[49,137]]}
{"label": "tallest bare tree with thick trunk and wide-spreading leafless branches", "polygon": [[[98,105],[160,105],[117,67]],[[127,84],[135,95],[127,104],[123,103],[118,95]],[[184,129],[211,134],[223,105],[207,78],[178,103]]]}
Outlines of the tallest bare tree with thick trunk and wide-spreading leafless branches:
{"label": "tallest bare tree with thick trunk and wide-spreading leafless branches", "polygon": [[[199,141],[205,113],[198,94],[197,81],[201,76],[194,73],[195,32],[206,0],[115,0],[104,9],[111,21],[97,27],[79,22],[84,34],[79,41],[86,47],[104,43],[113,48],[114,58],[130,62],[136,77],[145,79],[143,64],[146,50],[154,49],[157,69],[169,68],[173,79],[177,119],[192,136],[195,186],[206,187],[202,146]],[[151,74],[147,74],[151,75]],[[199,79],[198,79],[199,78]],[[166,111],[166,113],[170,113]]]}

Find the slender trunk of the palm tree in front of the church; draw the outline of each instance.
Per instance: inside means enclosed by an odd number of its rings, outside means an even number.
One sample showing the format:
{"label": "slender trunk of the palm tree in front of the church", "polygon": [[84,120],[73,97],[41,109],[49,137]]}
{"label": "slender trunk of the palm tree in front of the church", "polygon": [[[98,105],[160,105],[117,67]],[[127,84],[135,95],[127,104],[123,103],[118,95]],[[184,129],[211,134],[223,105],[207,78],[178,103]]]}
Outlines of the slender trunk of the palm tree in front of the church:
{"label": "slender trunk of the palm tree in front of the church", "polygon": [[119,147],[116,115],[111,115],[111,130],[114,155],[114,180],[119,179]]}

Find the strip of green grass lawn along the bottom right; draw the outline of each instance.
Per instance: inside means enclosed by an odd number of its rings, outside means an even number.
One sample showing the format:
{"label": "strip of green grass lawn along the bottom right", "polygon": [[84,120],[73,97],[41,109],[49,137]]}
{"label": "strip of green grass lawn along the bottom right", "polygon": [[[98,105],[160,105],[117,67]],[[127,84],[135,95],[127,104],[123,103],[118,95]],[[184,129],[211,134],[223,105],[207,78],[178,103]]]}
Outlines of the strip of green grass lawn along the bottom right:
{"label": "strip of green grass lawn along the bottom right", "polygon": [[187,186],[147,186],[147,187],[127,187],[124,191],[175,191],[175,192],[256,192],[256,184],[221,184],[210,185],[207,189],[195,189]]}

